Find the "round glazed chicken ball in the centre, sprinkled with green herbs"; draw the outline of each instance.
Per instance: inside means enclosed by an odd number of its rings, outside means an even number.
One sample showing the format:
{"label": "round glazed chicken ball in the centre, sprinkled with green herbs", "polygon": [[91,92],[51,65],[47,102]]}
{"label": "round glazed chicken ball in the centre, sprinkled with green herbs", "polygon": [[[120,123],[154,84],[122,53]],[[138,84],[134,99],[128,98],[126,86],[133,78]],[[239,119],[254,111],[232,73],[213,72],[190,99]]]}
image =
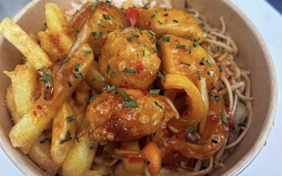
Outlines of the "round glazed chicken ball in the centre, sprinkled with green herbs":
{"label": "round glazed chicken ball in the centre, sprinkled with green herbs", "polygon": [[129,27],[111,32],[99,56],[99,70],[110,84],[147,89],[161,64],[155,43],[147,30]]}

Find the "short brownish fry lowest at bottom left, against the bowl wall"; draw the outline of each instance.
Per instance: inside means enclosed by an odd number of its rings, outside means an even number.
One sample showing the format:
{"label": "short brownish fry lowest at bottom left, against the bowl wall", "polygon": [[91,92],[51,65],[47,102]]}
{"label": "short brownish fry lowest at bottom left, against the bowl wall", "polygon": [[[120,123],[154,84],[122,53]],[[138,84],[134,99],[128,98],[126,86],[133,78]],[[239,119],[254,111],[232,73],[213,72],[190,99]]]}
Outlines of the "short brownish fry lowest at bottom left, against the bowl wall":
{"label": "short brownish fry lowest at bottom left, against the bowl wall", "polygon": [[50,142],[45,134],[39,135],[36,141],[32,144],[30,152],[27,154],[40,168],[45,170],[49,175],[56,175],[59,168],[54,162],[50,153]]}

